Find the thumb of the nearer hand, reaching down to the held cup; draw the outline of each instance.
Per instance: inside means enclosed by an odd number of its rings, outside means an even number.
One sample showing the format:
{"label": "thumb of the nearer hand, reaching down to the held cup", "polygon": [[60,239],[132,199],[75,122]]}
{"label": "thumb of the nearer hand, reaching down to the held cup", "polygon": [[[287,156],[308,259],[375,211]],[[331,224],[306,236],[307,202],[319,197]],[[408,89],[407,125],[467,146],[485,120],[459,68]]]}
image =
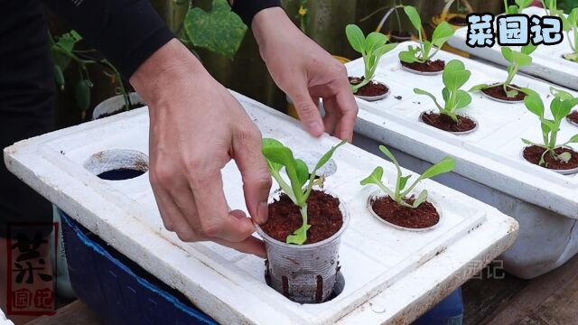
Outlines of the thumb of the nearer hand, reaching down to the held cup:
{"label": "thumb of the nearer hand, reaching down to the held cup", "polygon": [[261,133],[256,125],[250,124],[234,136],[232,154],[243,179],[247,210],[260,225],[267,220],[267,199],[272,183],[261,145]]}

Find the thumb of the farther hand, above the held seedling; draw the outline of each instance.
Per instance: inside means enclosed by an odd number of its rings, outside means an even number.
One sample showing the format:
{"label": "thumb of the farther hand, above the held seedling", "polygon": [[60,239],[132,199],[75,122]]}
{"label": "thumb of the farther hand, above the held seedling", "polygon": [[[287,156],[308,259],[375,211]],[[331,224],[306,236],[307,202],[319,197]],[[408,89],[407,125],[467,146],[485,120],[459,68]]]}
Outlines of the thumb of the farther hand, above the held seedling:
{"label": "thumb of the farther hand, above the held seedling", "polygon": [[288,95],[293,100],[299,119],[307,133],[312,136],[322,135],[325,130],[322,115],[319,113],[319,107],[313,103],[309,90],[298,88]]}

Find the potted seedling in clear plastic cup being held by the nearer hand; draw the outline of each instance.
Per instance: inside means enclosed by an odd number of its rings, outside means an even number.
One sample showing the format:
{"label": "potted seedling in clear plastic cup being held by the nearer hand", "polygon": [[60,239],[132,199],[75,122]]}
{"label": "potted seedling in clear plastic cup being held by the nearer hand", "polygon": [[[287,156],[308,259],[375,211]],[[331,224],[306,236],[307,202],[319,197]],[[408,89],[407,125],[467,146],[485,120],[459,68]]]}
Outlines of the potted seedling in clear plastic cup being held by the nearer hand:
{"label": "potted seedling in clear plastic cup being held by the nearer hand", "polygon": [[323,178],[316,179],[316,173],[342,144],[331,147],[310,172],[284,144],[263,140],[262,152],[280,193],[256,231],[266,244],[267,283],[294,302],[324,302],[335,285],[340,238],[349,215],[343,201],[313,186],[322,189]]}

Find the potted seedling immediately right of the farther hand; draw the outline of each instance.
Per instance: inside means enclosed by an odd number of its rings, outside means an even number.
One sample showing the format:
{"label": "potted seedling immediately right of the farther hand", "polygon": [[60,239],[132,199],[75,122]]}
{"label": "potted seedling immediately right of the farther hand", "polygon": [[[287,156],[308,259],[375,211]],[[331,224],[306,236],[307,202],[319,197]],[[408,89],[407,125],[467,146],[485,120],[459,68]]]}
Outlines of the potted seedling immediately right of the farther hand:
{"label": "potted seedling immediately right of the farther hand", "polygon": [[358,98],[369,101],[386,98],[389,88],[384,83],[374,81],[373,77],[381,57],[395,49],[397,43],[387,43],[387,36],[381,32],[371,32],[366,38],[361,29],[354,24],[345,27],[345,34],[353,50],[361,53],[365,67],[363,77],[350,77],[351,91]]}

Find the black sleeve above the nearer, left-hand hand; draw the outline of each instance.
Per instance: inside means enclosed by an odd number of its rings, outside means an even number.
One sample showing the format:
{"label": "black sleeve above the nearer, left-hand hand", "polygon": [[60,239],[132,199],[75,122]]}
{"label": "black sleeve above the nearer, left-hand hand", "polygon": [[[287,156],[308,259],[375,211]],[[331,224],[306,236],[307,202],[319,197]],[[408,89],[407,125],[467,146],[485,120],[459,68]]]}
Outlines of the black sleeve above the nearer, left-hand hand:
{"label": "black sleeve above the nearer, left-hand hand", "polygon": [[148,0],[43,0],[128,79],[174,35]]}

